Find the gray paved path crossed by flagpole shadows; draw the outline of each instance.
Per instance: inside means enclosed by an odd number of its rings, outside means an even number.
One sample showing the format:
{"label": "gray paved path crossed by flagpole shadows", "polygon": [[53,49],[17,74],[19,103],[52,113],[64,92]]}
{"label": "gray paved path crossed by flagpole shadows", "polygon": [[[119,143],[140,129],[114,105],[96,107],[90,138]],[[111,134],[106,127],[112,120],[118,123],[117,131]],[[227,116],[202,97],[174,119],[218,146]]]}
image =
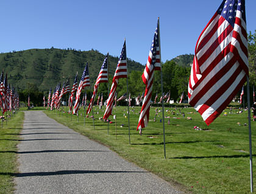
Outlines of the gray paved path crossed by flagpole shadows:
{"label": "gray paved path crossed by flagpole shadows", "polygon": [[15,193],[180,193],[104,145],[25,111]]}

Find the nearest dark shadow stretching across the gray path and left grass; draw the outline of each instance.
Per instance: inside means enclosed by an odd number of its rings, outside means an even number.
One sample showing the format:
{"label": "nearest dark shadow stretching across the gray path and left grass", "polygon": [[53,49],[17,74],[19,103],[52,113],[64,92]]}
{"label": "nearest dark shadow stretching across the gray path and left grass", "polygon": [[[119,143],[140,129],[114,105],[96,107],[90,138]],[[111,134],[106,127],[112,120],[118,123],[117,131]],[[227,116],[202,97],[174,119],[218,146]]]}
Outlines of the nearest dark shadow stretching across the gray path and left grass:
{"label": "nearest dark shadow stretching across the gray path and left grass", "polygon": [[0,175],[26,177],[26,176],[79,175],[79,174],[97,174],[97,173],[148,173],[148,171],[61,170],[61,171],[42,171],[42,172],[34,172],[34,173],[1,173],[0,172]]}

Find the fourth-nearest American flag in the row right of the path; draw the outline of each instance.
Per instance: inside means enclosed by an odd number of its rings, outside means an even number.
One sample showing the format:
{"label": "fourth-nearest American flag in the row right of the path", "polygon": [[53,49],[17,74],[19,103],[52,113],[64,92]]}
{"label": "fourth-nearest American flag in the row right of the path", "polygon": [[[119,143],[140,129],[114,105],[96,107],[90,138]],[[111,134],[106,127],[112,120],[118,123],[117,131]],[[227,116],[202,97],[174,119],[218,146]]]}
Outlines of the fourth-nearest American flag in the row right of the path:
{"label": "fourth-nearest American flag in the row right of the path", "polygon": [[101,70],[99,71],[98,78],[96,80],[96,83],[93,87],[93,96],[91,97],[90,104],[87,108],[86,114],[90,114],[91,108],[93,108],[93,103],[98,91],[98,87],[100,83],[108,82],[108,54],[105,57],[105,60],[101,66]]}

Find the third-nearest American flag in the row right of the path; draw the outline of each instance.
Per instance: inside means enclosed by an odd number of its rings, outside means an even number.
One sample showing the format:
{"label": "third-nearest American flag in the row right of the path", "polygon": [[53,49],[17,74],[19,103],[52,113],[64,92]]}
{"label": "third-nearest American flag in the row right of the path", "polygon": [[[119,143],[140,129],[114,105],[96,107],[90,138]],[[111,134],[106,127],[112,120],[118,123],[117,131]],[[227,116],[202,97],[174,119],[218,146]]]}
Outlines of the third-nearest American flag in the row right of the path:
{"label": "third-nearest American flag in the row right of the path", "polygon": [[107,119],[112,114],[113,102],[116,94],[116,88],[119,78],[127,78],[127,58],[126,58],[126,41],[124,41],[123,49],[118,60],[115,75],[113,77],[112,86],[107,99],[107,107],[103,119]]}

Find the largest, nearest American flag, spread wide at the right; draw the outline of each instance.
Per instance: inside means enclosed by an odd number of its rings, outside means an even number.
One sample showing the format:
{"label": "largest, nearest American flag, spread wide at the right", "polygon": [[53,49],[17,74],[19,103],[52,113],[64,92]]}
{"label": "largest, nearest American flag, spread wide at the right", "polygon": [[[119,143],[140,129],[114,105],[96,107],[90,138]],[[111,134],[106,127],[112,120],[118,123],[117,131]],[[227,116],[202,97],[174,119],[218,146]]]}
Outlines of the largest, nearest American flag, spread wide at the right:
{"label": "largest, nearest American flag, spread wide at the right", "polygon": [[207,125],[246,81],[247,56],[244,0],[224,0],[199,36],[188,83],[189,103]]}

